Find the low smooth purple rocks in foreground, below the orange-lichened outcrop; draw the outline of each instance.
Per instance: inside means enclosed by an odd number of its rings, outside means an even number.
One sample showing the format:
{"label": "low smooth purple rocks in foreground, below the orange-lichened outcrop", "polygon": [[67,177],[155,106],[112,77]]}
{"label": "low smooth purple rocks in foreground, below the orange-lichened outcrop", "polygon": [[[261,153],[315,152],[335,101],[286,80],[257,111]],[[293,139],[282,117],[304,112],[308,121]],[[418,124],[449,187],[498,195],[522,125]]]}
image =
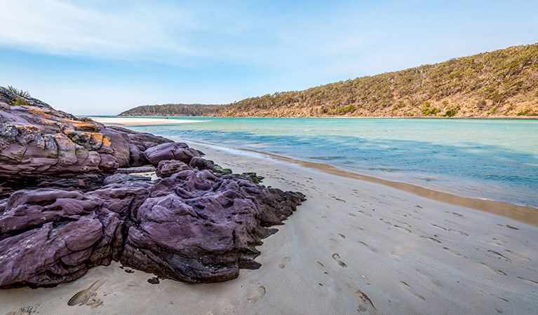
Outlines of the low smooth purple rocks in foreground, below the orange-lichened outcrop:
{"label": "low smooth purple rocks in foreground, below the orange-lichened outcrop", "polygon": [[210,170],[184,170],[152,185],[116,174],[89,193],[19,190],[0,202],[0,287],[51,286],[119,260],[161,278],[233,279],[255,269],[255,246],[276,232],[300,193]]}

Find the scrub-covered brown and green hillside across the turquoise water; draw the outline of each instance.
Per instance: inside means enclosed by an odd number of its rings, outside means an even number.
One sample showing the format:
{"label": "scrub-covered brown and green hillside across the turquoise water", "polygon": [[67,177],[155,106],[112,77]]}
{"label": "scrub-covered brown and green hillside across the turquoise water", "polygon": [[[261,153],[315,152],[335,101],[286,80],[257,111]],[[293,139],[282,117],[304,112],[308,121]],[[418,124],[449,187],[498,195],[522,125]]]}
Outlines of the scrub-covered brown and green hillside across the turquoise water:
{"label": "scrub-covered brown and green hillside across the turquoise water", "polygon": [[140,106],[121,115],[538,116],[538,43],[223,106]]}

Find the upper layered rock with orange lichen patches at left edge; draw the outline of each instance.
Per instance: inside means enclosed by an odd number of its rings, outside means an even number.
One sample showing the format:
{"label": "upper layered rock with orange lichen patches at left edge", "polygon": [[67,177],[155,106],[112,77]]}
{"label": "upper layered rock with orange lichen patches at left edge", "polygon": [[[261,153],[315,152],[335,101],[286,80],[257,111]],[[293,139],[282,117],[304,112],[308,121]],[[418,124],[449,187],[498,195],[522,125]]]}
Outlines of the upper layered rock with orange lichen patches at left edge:
{"label": "upper layered rock with orange lichen patches at left edge", "polygon": [[143,154],[147,148],[167,142],[172,141],[76,118],[0,88],[0,188],[4,190],[11,188],[13,178],[39,182],[51,176],[141,166],[147,164]]}

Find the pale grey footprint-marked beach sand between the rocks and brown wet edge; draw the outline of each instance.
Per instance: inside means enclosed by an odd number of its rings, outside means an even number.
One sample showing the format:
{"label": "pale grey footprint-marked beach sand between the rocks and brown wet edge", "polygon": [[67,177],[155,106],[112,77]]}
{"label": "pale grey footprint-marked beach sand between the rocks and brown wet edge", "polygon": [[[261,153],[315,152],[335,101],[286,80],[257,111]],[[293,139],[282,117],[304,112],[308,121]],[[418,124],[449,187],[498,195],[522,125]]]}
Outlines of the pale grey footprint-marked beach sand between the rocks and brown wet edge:
{"label": "pale grey footprint-marked beach sand between the rocks and brown wet edge", "polygon": [[[234,172],[266,176],[266,186],[307,195],[258,247],[260,269],[224,283],[150,284],[152,274],[114,263],[55,288],[0,290],[0,313],[537,314],[534,225],[255,153],[193,146]],[[68,306],[83,289],[90,300]]]}

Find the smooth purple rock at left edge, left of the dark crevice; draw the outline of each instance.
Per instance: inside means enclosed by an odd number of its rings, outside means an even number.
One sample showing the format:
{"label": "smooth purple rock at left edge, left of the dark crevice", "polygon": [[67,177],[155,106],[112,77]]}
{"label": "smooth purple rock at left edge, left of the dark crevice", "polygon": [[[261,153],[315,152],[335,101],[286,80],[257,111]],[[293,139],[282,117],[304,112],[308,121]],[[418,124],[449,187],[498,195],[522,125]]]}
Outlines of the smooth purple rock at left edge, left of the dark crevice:
{"label": "smooth purple rock at left edge, left of the dark crevice", "polygon": [[78,279],[121,253],[123,221],[79,192],[20,190],[0,202],[0,286]]}

